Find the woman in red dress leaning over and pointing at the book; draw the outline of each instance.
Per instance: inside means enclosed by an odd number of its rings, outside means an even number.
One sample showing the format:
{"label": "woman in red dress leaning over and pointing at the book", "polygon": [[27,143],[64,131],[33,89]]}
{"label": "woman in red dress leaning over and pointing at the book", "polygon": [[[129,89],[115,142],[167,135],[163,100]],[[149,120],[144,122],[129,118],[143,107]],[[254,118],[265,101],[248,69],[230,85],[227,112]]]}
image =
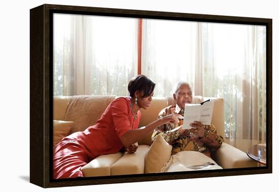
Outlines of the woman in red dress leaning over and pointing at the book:
{"label": "woman in red dress leaning over and pointing at the book", "polygon": [[147,109],[152,101],[155,84],[145,75],[137,75],[128,84],[130,97],[120,97],[110,103],[95,125],[85,131],[63,138],[53,152],[53,178],[83,177],[81,168],[94,158],[118,152],[123,146],[129,153],[136,151],[134,144],[155,128],[178,122],[179,114],[138,128],[140,108]]}

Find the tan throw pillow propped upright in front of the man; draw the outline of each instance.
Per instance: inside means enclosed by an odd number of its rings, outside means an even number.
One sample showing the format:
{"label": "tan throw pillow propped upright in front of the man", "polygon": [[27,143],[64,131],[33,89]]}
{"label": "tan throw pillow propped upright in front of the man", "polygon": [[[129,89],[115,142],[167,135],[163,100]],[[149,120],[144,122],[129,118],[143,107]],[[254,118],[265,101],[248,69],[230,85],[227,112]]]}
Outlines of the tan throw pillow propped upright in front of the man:
{"label": "tan throw pillow propped upright in front of the man", "polygon": [[160,172],[171,156],[172,146],[161,135],[158,135],[145,157],[145,173]]}

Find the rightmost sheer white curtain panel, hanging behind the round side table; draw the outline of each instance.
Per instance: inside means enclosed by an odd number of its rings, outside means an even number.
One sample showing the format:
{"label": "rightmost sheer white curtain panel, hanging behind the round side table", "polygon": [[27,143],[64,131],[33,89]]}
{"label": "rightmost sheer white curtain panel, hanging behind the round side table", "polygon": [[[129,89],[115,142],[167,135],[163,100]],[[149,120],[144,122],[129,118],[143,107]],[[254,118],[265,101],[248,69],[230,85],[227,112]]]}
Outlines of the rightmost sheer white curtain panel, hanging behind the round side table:
{"label": "rightmost sheer white curtain panel, hanging behind the round side table", "polygon": [[224,98],[226,141],[243,151],[265,143],[265,27],[202,25],[204,95]]}

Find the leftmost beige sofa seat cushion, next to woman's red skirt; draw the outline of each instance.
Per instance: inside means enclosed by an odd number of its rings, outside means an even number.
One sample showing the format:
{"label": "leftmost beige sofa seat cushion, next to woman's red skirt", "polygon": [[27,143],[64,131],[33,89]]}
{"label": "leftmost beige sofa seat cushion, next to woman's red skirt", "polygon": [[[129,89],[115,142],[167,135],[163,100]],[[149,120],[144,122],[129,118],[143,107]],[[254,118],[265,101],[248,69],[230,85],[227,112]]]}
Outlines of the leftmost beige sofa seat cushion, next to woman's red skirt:
{"label": "leftmost beige sofa seat cushion, next to woman's red skirt", "polygon": [[93,159],[90,163],[81,168],[85,177],[109,176],[111,166],[124,155],[123,152],[101,155]]}

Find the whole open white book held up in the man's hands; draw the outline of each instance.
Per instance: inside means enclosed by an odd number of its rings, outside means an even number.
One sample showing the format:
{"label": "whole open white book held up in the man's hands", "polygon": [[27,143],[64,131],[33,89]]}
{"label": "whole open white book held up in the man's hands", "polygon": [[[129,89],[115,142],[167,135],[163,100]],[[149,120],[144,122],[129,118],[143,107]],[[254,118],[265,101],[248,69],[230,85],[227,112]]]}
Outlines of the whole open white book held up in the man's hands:
{"label": "whole open white book held up in the man's hands", "polygon": [[190,124],[195,121],[201,122],[203,125],[211,125],[214,100],[208,99],[200,104],[185,105],[183,129],[192,129]]}

